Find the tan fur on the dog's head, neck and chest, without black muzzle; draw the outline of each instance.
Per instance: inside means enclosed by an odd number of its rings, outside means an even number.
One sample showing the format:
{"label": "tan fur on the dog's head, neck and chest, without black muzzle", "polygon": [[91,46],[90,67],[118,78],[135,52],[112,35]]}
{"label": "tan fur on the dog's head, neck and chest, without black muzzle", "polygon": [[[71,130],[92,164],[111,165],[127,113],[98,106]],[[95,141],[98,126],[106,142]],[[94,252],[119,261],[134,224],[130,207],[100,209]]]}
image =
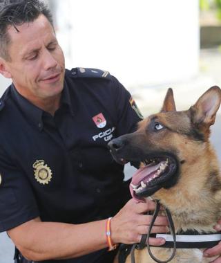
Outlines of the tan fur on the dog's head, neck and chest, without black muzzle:
{"label": "tan fur on the dog's head, neck and chest, without black muzzle", "polygon": [[[169,89],[162,111],[144,119],[134,137],[130,137],[132,149],[148,147],[150,151],[169,150],[180,161],[177,183],[169,189],[157,190],[152,196],[169,208],[176,232],[181,229],[215,232],[213,226],[221,217],[221,173],[218,158],[209,143],[209,127],[215,121],[220,102],[220,89],[212,87],[189,111],[176,111],[173,91]],[[166,129],[152,132],[148,127],[153,120]],[[203,136],[203,140],[194,138],[196,131],[195,136]],[[203,250],[179,248],[171,263],[211,262],[215,257],[203,257]],[[171,248],[152,247],[151,251],[159,260],[167,260],[172,253]],[[135,260],[136,263],[155,262],[146,248],[135,252]],[[126,263],[131,263],[130,256]]]}

